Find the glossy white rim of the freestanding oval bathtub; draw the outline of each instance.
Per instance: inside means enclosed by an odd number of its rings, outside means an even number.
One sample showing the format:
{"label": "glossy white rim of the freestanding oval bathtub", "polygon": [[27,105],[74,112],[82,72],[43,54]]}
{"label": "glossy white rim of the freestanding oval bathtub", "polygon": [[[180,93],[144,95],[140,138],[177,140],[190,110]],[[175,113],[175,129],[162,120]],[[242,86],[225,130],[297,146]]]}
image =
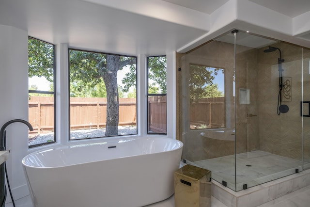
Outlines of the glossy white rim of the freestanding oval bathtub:
{"label": "glossy white rim of the freestanding oval bathtub", "polygon": [[[24,167],[27,167],[27,168],[40,168],[40,169],[50,169],[50,168],[64,168],[64,167],[68,167],[68,166],[74,166],[74,165],[80,165],[80,164],[85,164],[85,163],[95,163],[95,162],[101,162],[101,161],[106,161],[106,160],[112,160],[112,159],[101,159],[101,160],[95,160],[95,161],[87,161],[87,162],[79,162],[79,163],[74,163],[74,164],[67,164],[67,165],[64,165],[64,166],[51,166],[51,167],[42,167],[42,166],[31,166],[29,164],[26,164],[25,163],[25,160],[35,154],[39,154],[39,153],[44,153],[44,152],[47,152],[47,151],[51,151],[51,150],[60,150],[61,148],[66,148],[68,146],[74,146],[74,145],[84,145],[84,144],[96,144],[96,143],[112,143],[113,141],[114,142],[118,142],[120,140],[128,140],[128,139],[131,139],[131,140],[135,140],[135,139],[148,139],[148,138],[155,138],[155,139],[172,139],[172,138],[168,138],[168,137],[126,137],[126,138],[114,138],[114,139],[109,139],[109,140],[100,140],[100,141],[97,141],[97,142],[89,142],[89,143],[68,143],[68,144],[62,144],[62,145],[54,145],[54,146],[51,146],[51,147],[48,147],[48,148],[44,148],[44,149],[39,149],[37,151],[34,151],[30,154],[28,154],[27,156],[25,156],[23,159],[22,159],[22,165]],[[149,154],[141,154],[141,155],[130,155],[130,156],[122,156],[122,157],[117,157],[117,158],[113,158],[113,159],[124,159],[124,158],[130,158],[130,157],[138,157],[138,156],[148,156],[148,155],[155,155],[155,154],[159,154],[159,153],[165,153],[165,152],[173,152],[173,151],[176,151],[176,150],[182,150],[183,146],[184,146],[184,143],[182,143],[181,141],[179,140],[176,140],[176,139],[172,139],[173,141],[176,141],[177,143],[180,144],[180,146],[178,148],[175,148],[175,149],[172,149],[172,150],[168,150],[168,151],[160,151],[160,152],[154,152],[154,153],[149,153]],[[85,146],[87,147],[87,146]]]}

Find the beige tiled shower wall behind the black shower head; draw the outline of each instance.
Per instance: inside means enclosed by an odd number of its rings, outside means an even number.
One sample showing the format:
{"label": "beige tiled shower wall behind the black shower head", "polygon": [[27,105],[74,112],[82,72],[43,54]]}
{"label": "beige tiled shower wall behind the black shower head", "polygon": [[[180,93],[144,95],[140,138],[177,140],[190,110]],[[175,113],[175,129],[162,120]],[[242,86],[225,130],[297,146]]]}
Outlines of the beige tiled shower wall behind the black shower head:
{"label": "beige tiled shower wall behind the black shower head", "polygon": [[[282,59],[285,60],[282,63],[282,76],[292,79],[291,100],[282,102],[282,104],[289,107],[289,111],[278,115],[279,51],[263,53],[263,49],[259,49],[258,109],[260,150],[302,160],[303,128],[300,115],[302,52],[306,51],[309,57],[309,50],[286,43],[277,43],[272,46],[280,48],[282,51]],[[305,70],[308,70],[307,74],[309,74],[309,59],[307,65],[304,64],[303,66]],[[304,97],[310,100],[310,90],[307,88],[304,89]],[[309,118],[305,117],[304,120],[307,122]],[[305,129],[308,126],[305,126]]]}

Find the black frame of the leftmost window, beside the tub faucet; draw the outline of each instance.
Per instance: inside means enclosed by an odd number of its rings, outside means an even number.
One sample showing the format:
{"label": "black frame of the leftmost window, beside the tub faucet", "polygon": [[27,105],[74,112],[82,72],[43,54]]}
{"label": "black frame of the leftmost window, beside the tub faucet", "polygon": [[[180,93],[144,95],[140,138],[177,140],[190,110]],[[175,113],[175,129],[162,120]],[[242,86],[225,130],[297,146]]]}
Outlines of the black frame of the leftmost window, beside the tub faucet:
{"label": "black frame of the leftmost window, beside the tub faucet", "polygon": [[[37,38],[34,38],[34,37],[31,37],[31,36],[28,36],[28,39],[34,39],[34,40],[37,40],[37,41],[40,41],[40,42],[43,42],[43,43],[46,43],[46,44],[49,44],[51,46],[53,46],[53,91],[42,91],[42,90],[29,90],[28,89],[28,95],[31,94],[31,93],[35,93],[35,94],[50,94],[50,95],[53,95],[53,100],[54,100],[54,136],[53,136],[53,141],[51,142],[46,142],[46,143],[39,143],[39,144],[33,144],[33,145],[28,145],[28,148],[33,148],[33,147],[38,147],[38,146],[43,146],[43,145],[47,145],[47,144],[52,144],[52,143],[56,143],[56,130],[57,130],[57,127],[56,127],[56,45],[55,44],[52,44],[52,43],[49,43],[47,41],[44,41],[44,40],[40,40],[40,39],[37,39]],[[28,70],[28,74],[29,74],[29,70]],[[28,79],[29,79],[29,75],[28,75]],[[28,86],[29,87],[29,86]],[[28,105],[28,111],[29,111],[29,105]]]}

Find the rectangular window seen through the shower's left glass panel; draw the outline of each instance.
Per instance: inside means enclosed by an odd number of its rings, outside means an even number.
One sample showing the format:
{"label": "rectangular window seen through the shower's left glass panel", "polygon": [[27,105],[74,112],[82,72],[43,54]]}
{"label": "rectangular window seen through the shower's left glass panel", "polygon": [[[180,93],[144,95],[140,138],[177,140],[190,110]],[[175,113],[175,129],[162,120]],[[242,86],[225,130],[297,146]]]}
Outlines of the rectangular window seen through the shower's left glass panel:
{"label": "rectangular window seen through the shower's left glass panel", "polygon": [[225,127],[224,69],[189,64],[190,128]]}

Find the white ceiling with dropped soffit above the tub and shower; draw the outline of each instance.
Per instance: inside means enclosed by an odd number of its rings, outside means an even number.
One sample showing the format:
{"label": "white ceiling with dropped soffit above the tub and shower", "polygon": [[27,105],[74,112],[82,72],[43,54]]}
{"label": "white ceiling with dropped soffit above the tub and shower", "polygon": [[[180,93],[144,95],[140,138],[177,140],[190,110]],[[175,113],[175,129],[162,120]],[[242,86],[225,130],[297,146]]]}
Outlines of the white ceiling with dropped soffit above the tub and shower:
{"label": "white ceiling with dropped soffit above the tub and shower", "polygon": [[234,28],[310,48],[309,19],[310,0],[0,0],[0,25],[128,55],[186,52]]}

